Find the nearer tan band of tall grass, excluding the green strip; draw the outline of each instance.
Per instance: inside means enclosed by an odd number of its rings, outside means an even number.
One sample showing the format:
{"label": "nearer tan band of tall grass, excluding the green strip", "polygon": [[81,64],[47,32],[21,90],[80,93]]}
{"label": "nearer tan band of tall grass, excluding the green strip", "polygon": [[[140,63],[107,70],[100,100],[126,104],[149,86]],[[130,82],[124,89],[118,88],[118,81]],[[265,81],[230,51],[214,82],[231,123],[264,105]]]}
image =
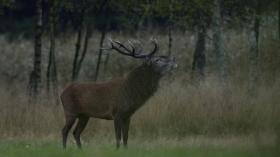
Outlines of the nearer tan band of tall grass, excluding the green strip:
{"label": "nearer tan band of tall grass, excluding the green strip", "polygon": [[[239,85],[221,88],[214,80],[197,87],[177,78],[161,86],[133,117],[132,136],[274,134],[280,82],[272,88],[258,88],[257,96],[249,95]],[[56,106],[44,96],[40,102],[30,104],[22,89],[9,87],[0,91],[1,137],[60,136],[64,124],[61,105]],[[86,135],[113,137],[113,123],[93,119]]]}

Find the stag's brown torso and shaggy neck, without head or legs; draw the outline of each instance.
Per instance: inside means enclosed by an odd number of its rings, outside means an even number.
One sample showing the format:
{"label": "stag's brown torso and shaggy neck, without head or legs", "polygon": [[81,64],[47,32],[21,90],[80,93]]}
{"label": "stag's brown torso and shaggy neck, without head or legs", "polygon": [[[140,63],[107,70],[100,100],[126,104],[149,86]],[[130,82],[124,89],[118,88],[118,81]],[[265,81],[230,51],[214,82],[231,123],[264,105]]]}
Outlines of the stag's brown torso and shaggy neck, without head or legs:
{"label": "stag's brown torso and shaggy neck, without head or legs", "polygon": [[159,78],[147,65],[142,65],[126,78],[104,83],[73,83],[61,95],[62,103],[66,104],[63,105],[65,114],[107,120],[113,120],[119,112],[132,115],[156,91]]}

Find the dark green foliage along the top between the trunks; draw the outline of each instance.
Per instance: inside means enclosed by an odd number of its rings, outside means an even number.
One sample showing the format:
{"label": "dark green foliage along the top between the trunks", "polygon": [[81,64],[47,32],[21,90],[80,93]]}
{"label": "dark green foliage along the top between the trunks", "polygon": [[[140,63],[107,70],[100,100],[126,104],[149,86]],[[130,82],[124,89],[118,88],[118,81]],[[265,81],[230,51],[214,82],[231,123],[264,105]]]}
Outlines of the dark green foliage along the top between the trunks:
{"label": "dark green foliage along the top between the trunks", "polygon": [[[34,0],[28,0],[28,2],[32,6]],[[106,26],[110,30],[127,32],[147,27],[162,29],[167,28],[168,25],[183,30],[193,30],[201,26],[209,28],[213,12],[213,2],[209,0],[107,0],[107,4],[102,9],[101,4],[104,0],[54,0],[54,2],[61,31],[76,29],[81,23],[81,12],[84,9],[87,12],[86,20],[93,23],[93,28],[101,30]],[[248,25],[254,17],[257,3],[260,3],[262,14],[276,12],[278,4],[277,0],[221,0],[221,2],[224,24],[230,28]],[[0,13],[5,17],[6,13],[3,12],[5,8],[13,12],[13,14],[8,13],[7,16],[13,16],[10,19],[16,20],[17,16],[21,16],[21,10],[28,6],[25,3],[27,2],[1,0]],[[26,19],[34,16],[31,11],[26,13],[28,16],[23,15]],[[9,25],[8,19],[9,17],[1,19],[4,23],[1,27]],[[16,22],[19,21],[11,23]]]}

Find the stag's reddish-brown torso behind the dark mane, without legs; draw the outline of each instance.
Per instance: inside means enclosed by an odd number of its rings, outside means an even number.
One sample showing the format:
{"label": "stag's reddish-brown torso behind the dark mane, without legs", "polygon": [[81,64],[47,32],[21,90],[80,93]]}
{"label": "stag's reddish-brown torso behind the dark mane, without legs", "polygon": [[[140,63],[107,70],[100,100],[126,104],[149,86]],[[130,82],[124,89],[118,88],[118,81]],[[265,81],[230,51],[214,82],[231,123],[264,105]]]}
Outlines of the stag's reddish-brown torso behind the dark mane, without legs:
{"label": "stag's reddish-brown torso behind the dark mane, without legs", "polygon": [[71,84],[61,95],[65,114],[112,120],[122,81]]}

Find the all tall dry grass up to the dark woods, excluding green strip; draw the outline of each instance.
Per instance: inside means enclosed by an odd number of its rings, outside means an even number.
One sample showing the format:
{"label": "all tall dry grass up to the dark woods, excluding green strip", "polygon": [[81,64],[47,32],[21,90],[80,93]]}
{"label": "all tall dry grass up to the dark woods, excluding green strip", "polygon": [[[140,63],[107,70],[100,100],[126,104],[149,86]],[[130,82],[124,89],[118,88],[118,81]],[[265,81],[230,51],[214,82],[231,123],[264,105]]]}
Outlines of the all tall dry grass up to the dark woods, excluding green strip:
{"label": "all tall dry grass up to the dark woods, excluding green strip", "polygon": [[[270,30],[270,29],[267,29]],[[263,33],[264,34],[264,33]],[[124,34],[110,36],[125,40]],[[167,37],[158,36],[160,52],[166,53]],[[90,81],[94,75],[99,34],[91,39],[89,53],[83,64],[81,81]],[[136,38],[147,40],[149,34]],[[189,79],[195,37],[192,33],[174,36],[174,55],[179,69],[163,79],[158,92],[136,112],[131,123],[132,137],[183,138],[190,135],[223,136],[266,134],[274,136],[280,104],[279,44],[273,33],[266,31],[261,37],[260,75],[256,95],[247,90],[249,43],[244,32],[227,32],[228,57],[227,86],[222,87],[213,73],[211,40],[207,43],[207,69],[205,82],[197,86]],[[47,41],[46,41],[47,43]],[[59,89],[69,83],[74,38],[59,39],[57,65]],[[43,74],[46,69],[48,47],[43,48]],[[26,92],[28,73],[32,68],[32,44],[19,39],[12,43],[0,39],[0,138],[60,137],[64,125],[62,106],[54,104],[53,97],[42,94],[37,103],[30,103]],[[139,61],[111,54],[108,73],[102,80],[123,75]],[[44,75],[43,75],[44,76]],[[44,82],[44,78],[43,78]],[[44,84],[43,84],[44,87]],[[114,137],[111,121],[92,119],[85,130],[86,137]]]}

